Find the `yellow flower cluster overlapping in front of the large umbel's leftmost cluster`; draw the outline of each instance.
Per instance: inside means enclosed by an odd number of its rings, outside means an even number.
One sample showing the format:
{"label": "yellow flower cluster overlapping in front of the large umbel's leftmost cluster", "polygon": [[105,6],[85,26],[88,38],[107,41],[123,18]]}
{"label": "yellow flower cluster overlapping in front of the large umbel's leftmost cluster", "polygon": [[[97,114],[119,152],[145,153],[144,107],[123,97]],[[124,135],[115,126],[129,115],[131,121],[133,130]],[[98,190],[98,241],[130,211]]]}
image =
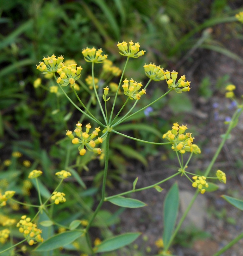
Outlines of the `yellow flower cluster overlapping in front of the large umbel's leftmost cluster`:
{"label": "yellow flower cluster overlapping in front of the large umbel's leftmost cluster", "polygon": [[57,83],[61,86],[67,86],[68,84],[74,86],[75,81],[78,80],[78,78],[81,76],[80,73],[82,69],[83,68],[81,66],[77,67],[76,63],[69,65],[60,63],[57,70],[57,73],[60,75],[60,77],[57,78]]}

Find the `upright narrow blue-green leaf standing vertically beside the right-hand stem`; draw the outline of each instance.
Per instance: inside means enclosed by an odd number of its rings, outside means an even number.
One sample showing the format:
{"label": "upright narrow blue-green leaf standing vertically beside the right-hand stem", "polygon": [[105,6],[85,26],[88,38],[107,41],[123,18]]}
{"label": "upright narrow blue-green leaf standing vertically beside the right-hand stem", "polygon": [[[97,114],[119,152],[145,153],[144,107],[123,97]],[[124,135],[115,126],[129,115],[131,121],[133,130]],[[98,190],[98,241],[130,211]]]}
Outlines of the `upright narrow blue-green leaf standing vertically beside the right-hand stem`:
{"label": "upright narrow blue-green leaf standing vertically beside the right-hand stem", "polygon": [[164,247],[169,244],[177,219],[179,208],[179,190],[175,183],[168,191],[164,202]]}

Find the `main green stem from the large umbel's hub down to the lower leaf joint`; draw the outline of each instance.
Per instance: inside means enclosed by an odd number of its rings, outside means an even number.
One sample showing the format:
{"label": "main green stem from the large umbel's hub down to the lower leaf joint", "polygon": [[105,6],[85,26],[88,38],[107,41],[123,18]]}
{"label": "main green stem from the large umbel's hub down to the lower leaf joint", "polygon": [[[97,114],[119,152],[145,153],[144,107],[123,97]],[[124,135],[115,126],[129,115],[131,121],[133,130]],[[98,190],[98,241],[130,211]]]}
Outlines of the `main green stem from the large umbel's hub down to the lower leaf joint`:
{"label": "main green stem from the large umbel's hub down to the lower leaf joint", "polygon": [[101,199],[100,202],[93,213],[91,219],[89,220],[89,224],[86,227],[86,232],[89,230],[93,220],[95,219],[95,216],[97,215],[98,211],[100,210],[101,206],[104,203],[105,199],[105,186],[106,186],[106,178],[107,178],[107,172],[108,172],[108,163],[109,163],[109,137],[110,137],[110,132],[107,133],[107,137],[105,140],[105,168],[104,168],[104,175],[103,175],[103,183],[102,183],[102,192],[101,192]]}

